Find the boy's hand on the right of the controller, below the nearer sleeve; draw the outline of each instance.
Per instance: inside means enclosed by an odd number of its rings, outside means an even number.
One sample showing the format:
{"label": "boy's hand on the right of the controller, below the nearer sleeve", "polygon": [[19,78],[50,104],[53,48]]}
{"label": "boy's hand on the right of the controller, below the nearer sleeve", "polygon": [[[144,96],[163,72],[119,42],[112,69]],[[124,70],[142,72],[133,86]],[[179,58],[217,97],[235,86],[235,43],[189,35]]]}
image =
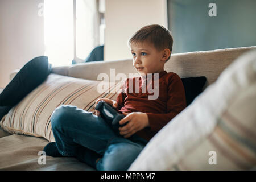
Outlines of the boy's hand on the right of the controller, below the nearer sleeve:
{"label": "boy's hand on the right of the controller, below the nearer sleeve", "polygon": [[130,137],[137,131],[142,130],[144,127],[150,126],[146,113],[133,112],[128,114],[123,112],[123,115],[125,115],[125,118],[121,119],[119,124],[123,125],[129,121],[127,125],[119,127],[120,134],[124,135],[125,138]]}

